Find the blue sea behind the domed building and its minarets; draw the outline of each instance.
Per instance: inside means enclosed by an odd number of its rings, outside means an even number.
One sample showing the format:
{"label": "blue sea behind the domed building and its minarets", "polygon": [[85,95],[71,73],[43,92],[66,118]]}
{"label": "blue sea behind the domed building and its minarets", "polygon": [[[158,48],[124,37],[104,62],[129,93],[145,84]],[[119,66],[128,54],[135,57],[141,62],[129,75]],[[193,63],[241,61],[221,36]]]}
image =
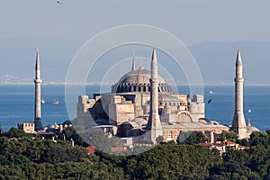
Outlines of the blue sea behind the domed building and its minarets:
{"label": "blue sea behind the domed building and its minarets", "polygon": [[[189,94],[188,85],[177,87],[179,93]],[[100,85],[87,85],[85,89],[91,97],[100,92]],[[234,86],[205,85],[203,89],[206,118],[230,125],[234,113]],[[110,91],[110,86],[107,91]],[[43,126],[70,120],[65,103],[65,85],[42,85],[41,98],[45,101],[41,104]],[[58,104],[54,104],[55,101]],[[244,86],[244,114],[246,121],[250,119],[251,125],[257,129],[270,129],[270,85]],[[34,85],[0,85],[2,130],[17,127],[18,122],[32,122],[33,117]]]}

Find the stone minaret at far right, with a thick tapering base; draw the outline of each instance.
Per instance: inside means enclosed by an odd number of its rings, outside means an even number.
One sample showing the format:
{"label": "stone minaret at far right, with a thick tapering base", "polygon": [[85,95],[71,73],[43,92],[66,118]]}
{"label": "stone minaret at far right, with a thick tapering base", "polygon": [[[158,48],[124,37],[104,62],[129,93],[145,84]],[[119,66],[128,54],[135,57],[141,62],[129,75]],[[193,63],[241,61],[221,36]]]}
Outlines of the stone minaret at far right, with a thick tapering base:
{"label": "stone minaret at far right, with a thick tapering base", "polygon": [[235,107],[231,129],[239,135],[239,139],[247,138],[247,126],[243,113],[243,64],[238,49],[236,60],[236,77],[235,82]]}

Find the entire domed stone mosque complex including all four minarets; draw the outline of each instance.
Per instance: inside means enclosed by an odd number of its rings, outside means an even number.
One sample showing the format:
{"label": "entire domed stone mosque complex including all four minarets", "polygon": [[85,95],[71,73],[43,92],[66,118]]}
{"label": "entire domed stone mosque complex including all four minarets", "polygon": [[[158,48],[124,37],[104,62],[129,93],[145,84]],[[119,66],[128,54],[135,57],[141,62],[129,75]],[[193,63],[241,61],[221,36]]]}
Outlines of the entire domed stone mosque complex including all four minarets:
{"label": "entire domed stone mosque complex including all four minarets", "polygon": [[[215,142],[222,131],[233,130],[239,139],[248,139],[256,127],[246,125],[243,113],[243,63],[238,49],[236,59],[235,111],[232,126],[209,121],[205,118],[203,94],[177,94],[166,81],[158,76],[157,53],[152,51],[150,70],[142,65],[135,67],[135,54],[130,72],[112,85],[110,93],[78,96],[77,124],[101,129],[108,137],[129,139],[135,137],[156,143],[158,137],[165,141],[176,140],[182,131],[202,132],[209,142]],[[18,128],[28,133],[44,131],[40,108],[40,57],[36,54],[34,122],[18,123]]]}

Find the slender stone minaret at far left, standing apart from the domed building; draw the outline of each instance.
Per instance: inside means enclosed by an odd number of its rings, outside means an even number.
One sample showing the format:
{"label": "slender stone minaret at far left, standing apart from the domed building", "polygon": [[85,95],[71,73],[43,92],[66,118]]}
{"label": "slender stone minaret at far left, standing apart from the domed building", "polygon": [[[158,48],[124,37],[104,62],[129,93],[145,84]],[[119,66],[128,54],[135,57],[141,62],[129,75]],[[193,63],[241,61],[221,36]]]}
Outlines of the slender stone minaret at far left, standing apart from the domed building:
{"label": "slender stone minaret at far left, standing apart from the domed building", "polygon": [[34,123],[35,123],[35,130],[42,130],[42,123],[41,123],[41,82],[40,79],[40,56],[39,56],[39,49],[37,49],[36,54],[36,69],[35,69],[35,114],[34,114]]}

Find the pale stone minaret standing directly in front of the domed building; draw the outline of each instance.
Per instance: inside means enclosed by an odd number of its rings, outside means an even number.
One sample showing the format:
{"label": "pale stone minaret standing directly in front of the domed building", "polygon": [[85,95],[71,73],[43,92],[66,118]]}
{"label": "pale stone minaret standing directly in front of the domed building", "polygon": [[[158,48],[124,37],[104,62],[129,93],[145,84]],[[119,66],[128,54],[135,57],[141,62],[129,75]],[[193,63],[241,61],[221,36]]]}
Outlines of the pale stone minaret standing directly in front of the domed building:
{"label": "pale stone minaret standing directly in front of the domed building", "polygon": [[149,139],[156,143],[158,136],[162,136],[161,122],[158,115],[158,73],[157,73],[157,54],[153,48],[151,61],[151,92],[150,92],[150,114],[148,118],[147,129],[149,130]]}

